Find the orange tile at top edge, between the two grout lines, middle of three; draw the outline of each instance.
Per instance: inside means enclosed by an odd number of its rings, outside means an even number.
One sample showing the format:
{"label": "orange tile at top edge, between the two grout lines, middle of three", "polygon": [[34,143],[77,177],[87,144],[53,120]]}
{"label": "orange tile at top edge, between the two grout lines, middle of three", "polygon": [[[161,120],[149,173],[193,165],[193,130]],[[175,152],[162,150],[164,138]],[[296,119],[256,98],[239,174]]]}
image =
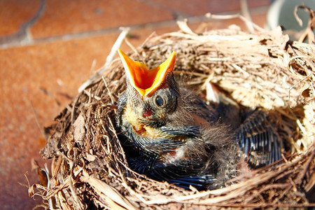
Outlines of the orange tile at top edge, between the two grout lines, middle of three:
{"label": "orange tile at top edge, between the two grout lines, middle of three", "polygon": [[34,38],[47,38],[174,18],[169,10],[144,2],[47,0],[42,17],[31,27],[31,34]]}

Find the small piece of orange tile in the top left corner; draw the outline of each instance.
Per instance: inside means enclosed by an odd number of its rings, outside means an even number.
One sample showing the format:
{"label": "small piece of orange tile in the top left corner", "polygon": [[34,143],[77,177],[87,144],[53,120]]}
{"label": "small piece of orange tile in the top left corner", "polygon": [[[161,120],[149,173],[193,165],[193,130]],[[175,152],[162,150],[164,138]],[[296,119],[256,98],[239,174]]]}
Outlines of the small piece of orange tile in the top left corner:
{"label": "small piece of orange tile in the top left corner", "polygon": [[40,6],[40,0],[0,1],[0,38],[18,31],[25,22],[36,15]]}

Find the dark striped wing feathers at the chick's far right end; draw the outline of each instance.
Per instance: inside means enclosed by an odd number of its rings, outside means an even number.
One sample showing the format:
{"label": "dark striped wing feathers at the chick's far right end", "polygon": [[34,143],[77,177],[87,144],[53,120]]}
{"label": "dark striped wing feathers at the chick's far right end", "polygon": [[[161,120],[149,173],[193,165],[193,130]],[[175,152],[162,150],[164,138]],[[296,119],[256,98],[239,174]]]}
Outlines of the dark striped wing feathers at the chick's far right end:
{"label": "dark striped wing feathers at the chick's far right end", "polygon": [[260,110],[248,113],[236,139],[250,167],[269,165],[281,158],[278,134],[267,114]]}

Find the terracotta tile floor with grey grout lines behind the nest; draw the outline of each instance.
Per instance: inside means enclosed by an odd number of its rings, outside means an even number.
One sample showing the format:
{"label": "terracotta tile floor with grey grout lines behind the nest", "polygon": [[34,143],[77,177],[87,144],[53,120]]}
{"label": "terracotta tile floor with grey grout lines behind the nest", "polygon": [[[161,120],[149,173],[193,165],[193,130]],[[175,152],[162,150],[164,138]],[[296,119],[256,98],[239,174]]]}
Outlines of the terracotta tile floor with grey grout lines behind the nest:
{"label": "terracotta tile floor with grey grout lines behind the nest", "polygon": [[[192,3],[194,2],[194,3]],[[248,0],[252,19],[263,27],[269,1]],[[176,20],[192,18],[208,29],[244,24],[205,20],[205,13],[239,13],[237,0],[0,1],[0,186],[1,209],[32,209],[27,179],[35,183],[31,159],[45,140],[41,129],[75,97],[94,69],[105,62],[120,33],[131,26],[137,46],[156,31],[178,30]],[[124,43],[124,50],[130,50]]]}

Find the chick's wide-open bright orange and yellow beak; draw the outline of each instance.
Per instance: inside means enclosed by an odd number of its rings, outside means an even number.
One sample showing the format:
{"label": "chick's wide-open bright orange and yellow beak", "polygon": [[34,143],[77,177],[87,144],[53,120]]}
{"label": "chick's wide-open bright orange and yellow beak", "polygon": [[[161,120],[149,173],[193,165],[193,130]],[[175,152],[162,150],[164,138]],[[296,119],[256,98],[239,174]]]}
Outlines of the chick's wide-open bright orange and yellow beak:
{"label": "chick's wide-open bright orange and yellow beak", "polygon": [[148,70],[146,64],[134,62],[122,50],[118,50],[120,59],[123,62],[126,76],[132,86],[141,94],[141,96],[151,97],[165,81],[167,74],[172,73],[175,64],[176,53],[172,55],[160,66]]}

